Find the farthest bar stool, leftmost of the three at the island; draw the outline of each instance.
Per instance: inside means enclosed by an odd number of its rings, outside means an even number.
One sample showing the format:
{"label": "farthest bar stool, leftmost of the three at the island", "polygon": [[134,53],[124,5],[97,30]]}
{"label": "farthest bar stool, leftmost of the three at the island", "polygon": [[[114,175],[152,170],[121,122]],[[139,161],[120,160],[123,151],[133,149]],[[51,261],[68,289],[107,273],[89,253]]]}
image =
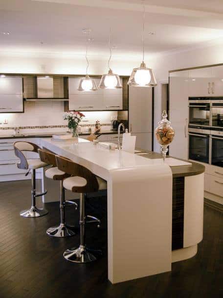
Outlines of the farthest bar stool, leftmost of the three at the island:
{"label": "farthest bar stool, leftmost of the three at the island", "polygon": [[32,198],[32,206],[30,209],[26,209],[20,212],[22,217],[34,218],[44,216],[48,213],[46,209],[40,209],[36,206],[36,198],[44,196],[47,191],[44,193],[36,192],[36,169],[43,168],[47,166],[45,162],[42,162],[39,158],[36,159],[28,159],[23,154],[23,151],[31,151],[38,153],[39,146],[29,142],[15,142],[14,143],[14,150],[15,155],[20,159],[20,162],[17,164],[19,169],[27,169],[28,172],[25,174],[27,175],[31,170],[31,181],[32,181],[32,190],[31,190],[31,198]]}

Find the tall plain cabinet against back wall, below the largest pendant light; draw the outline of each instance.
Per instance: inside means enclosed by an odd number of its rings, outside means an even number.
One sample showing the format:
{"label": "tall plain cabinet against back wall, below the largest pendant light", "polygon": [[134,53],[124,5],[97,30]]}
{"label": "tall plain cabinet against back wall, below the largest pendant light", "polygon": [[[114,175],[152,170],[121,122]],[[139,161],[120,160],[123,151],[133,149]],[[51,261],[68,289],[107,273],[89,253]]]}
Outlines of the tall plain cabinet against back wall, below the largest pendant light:
{"label": "tall plain cabinet against back wall, below the largest pendant light", "polygon": [[136,148],[152,149],[152,88],[129,86],[129,129]]}

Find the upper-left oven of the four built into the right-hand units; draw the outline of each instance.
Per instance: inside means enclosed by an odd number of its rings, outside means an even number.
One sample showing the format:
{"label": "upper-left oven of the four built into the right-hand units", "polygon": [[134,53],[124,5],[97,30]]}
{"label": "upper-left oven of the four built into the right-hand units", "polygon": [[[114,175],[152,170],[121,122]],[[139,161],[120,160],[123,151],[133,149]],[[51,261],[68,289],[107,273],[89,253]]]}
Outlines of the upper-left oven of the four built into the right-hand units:
{"label": "upper-left oven of the four built into the right-hand units", "polygon": [[189,98],[189,124],[210,125],[210,102],[190,100]]}

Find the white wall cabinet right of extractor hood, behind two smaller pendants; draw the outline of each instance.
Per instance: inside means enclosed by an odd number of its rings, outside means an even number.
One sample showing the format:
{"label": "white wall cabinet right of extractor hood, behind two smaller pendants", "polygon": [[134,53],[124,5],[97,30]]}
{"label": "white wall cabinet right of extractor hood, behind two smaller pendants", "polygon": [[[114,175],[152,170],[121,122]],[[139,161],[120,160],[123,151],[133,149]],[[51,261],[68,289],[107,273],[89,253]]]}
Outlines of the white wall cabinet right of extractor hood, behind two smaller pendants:
{"label": "white wall cabinet right of extractor hood, behind two smaller pendants", "polygon": [[[122,89],[78,91],[81,77],[69,77],[69,110],[122,110]],[[95,78],[98,86],[100,78]]]}

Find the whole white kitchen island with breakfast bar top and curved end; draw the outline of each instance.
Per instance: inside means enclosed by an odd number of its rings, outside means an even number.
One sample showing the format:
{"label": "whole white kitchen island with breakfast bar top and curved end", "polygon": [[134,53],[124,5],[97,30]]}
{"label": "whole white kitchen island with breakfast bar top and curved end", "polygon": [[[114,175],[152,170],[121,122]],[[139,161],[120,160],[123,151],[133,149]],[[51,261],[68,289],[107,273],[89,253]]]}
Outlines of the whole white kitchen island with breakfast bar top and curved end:
{"label": "whole white kitchen island with breakfast bar top and curved end", "polygon": [[171,271],[172,262],[197,253],[203,237],[203,165],[174,158],[163,163],[155,152],[101,149],[80,138],[44,138],[41,145],[107,181],[112,283]]}

